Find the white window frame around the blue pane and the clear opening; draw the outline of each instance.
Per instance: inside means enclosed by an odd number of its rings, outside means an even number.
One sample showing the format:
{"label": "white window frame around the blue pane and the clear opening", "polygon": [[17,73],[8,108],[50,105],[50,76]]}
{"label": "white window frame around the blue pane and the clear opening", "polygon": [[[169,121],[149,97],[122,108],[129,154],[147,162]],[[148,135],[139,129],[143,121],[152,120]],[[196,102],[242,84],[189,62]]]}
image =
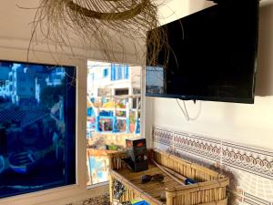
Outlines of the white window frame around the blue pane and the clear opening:
{"label": "white window frame around the blue pane and the clear opening", "polygon": [[[25,49],[2,48],[0,46],[1,60],[25,62]],[[61,54],[57,54],[60,56]],[[49,190],[40,190],[32,193],[16,195],[0,199],[1,205],[64,205],[79,200],[86,200],[108,193],[108,183],[100,183],[87,189],[86,167],[86,93],[87,93],[87,59],[86,57],[72,60],[64,56],[60,64],[76,67],[76,184],[62,186]],[[97,60],[98,61],[98,60]],[[52,53],[36,51],[34,59],[29,62],[41,64],[56,64]],[[124,63],[123,63],[124,64]],[[128,65],[133,66],[128,63]],[[135,65],[134,65],[135,66]],[[138,65],[136,65],[138,66]],[[141,71],[141,121],[140,135],[145,135],[145,67]],[[149,140],[147,138],[147,140]]]}

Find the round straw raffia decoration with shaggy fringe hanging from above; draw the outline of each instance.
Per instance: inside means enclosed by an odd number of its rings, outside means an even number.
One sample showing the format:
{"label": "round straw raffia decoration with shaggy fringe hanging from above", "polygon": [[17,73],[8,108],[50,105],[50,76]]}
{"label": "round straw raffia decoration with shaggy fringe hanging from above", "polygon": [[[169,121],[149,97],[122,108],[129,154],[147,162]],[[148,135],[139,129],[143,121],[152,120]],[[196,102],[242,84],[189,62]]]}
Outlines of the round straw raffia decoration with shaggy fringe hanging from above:
{"label": "round straw raffia decoration with shaggy fringe hanging from above", "polygon": [[99,49],[108,61],[116,61],[116,50],[126,56],[129,42],[137,62],[145,63],[147,55],[147,64],[157,65],[158,53],[167,45],[166,31],[157,26],[153,0],[41,0],[32,41],[39,31],[49,44],[73,50],[74,36],[82,48]]}

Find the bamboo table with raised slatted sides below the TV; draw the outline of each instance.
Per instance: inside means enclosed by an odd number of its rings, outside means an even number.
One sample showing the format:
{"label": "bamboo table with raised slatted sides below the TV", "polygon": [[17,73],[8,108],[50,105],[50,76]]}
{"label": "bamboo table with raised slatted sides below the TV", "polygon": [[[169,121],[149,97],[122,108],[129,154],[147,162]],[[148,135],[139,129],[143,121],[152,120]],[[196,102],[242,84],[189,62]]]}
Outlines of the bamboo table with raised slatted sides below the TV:
{"label": "bamboo table with raised slatted sides below the TV", "polygon": [[[198,183],[182,186],[165,175],[164,183],[150,181],[142,184],[141,176],[164,173],[152,164],[145,171],[132,172],[126,168],[126,164],[122,160],[126,158],[126,152],[112,153],[108,156],[110,158],[111,203],[113,203],[113,181],[117,179],[126,187],[126,192],[120,201],[142,198],[151,205],[227,205],[226,188],[229,185],[229,179],[214,170],[170,155],[167,152],[153,149],[149,151],[149,158],[153,158],[158,164],[172,169],[186,178],[197,180]],[[162,192],[166,194],[166,201],[160,200]]]}

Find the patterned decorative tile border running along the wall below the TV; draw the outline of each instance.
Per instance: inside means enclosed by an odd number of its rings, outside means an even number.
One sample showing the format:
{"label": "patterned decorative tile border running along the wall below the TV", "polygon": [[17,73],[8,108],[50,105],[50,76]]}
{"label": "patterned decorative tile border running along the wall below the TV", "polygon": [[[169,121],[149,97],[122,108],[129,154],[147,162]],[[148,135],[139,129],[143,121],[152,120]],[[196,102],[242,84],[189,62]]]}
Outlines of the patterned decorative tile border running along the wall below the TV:
{"label": "patterned decorative tile border running along the wall below the TV", "polygon": [[154,127],[153,140],[173,149],[273,179],[273,152],[270,151],[161,127]]}

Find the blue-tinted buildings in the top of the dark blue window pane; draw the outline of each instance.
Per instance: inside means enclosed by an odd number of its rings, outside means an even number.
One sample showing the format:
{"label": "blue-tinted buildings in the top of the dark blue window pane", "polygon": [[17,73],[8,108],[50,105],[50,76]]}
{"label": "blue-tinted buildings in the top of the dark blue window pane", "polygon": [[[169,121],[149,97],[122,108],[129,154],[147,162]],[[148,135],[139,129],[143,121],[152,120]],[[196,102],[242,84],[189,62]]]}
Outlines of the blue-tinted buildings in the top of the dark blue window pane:
{"label": "blue-tinted buildings in the top of the dark blue window pane", "polygon": [[31,67],[33,69],[27,68],[23,64],[13,64],[13,67],[8,67],[8,69],[1,67],[0,97],[10,98],[16,105],[29,99],[40,102],[44,87],[59,86],[66,77],[66,72],[62,68],[45,72],[45,68],[42,66]]}

